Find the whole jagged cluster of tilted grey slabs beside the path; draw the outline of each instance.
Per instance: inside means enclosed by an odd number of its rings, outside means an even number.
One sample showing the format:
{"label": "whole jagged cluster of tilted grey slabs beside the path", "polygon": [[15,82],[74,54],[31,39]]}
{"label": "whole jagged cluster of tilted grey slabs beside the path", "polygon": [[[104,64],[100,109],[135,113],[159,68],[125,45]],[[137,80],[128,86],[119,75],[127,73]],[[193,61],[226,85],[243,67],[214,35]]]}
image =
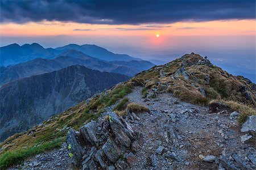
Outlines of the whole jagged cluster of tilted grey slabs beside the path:
{"label": "whole jagged cluster of tilted grey slabs beside the path", "polygon": [[80,132],[70,129],[67,139],[72,162],[82,169],[132,166],[134,143],[139,145],[133,129],[114,112],[107,113],[98,122],[91,121],[82,126]]}

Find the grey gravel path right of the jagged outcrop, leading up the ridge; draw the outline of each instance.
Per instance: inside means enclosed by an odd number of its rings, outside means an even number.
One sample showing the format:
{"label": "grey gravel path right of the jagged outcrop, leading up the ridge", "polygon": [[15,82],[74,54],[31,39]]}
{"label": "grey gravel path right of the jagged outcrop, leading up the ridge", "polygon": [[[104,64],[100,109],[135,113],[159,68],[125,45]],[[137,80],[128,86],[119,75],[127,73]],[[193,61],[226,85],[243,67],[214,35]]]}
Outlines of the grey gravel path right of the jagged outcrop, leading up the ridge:
{"label": "grey gravel path right of the jagged outcrop, leading up the ridge", "polygon": [[[255,145],[240,141],[240,128],[229,114],[209,113],[208,108],[182,102],[168,93],[145,101],[141,90],[137,87],[127,96],[129,101],[150,109],[150,113],[137,115],[140,121],[130,122],[143,135],[142,149],[136,153],[137,163],[131,169],[218,169],[218,163],[203,162],[199,155],[218,158],[222,154],[229,158],[233,152],[253,167],[246,154],[250,151],[255,155]],[[176,147],[167,141],[170,127],[176,129]],[[162,154],[156,154],[159,146],[164,147]]]}

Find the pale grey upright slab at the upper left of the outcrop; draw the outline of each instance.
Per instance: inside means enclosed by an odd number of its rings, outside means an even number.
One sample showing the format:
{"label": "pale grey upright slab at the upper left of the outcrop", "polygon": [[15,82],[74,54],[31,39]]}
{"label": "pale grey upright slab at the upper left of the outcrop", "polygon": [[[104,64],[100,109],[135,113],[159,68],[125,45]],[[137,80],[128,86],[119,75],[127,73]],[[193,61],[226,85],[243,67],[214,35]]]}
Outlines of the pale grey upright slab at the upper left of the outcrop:
{"label": "pale grey upright slab at the upper left of the outcrop", "polygon": [[92,145],[98,146],[100,143],[98,142],[98,137],[96,135],[97,122],[90,121],[88,124],[82,126],[80,128],[80,133],[85,141],[88,141]]}

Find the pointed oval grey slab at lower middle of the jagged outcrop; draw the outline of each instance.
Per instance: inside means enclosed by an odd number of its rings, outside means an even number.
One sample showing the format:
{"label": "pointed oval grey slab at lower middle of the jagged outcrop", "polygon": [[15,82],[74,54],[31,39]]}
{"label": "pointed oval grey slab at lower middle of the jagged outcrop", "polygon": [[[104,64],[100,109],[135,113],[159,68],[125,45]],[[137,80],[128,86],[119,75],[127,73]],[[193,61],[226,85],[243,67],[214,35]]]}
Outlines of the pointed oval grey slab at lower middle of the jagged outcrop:
{"label": "pointed oval grey slab at lower middle of the jagged outcrop", "polygon": [[112,163],[115,163],[120,155],[117,146],[115,146],[110,138],[108,138],[104,146],[102,146],[102,151],[104,151],[105,155]]}

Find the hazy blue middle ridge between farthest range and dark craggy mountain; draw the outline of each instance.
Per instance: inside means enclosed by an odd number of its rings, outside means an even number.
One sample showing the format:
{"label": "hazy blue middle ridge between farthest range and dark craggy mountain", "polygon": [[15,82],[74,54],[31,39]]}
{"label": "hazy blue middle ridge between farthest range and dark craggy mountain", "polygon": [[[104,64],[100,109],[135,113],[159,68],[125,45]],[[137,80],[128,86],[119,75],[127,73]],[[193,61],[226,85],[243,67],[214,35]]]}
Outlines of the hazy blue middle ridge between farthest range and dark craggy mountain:
{"label": "hazy blue middle ridge between farthest range and dark craggy mountain", "polygon": [[[69,50],[68,52],[62,53],[60,57],[54,59],[36,58],[32,61],[20,63],[18,65],[0,67],[0,86],[12,80],[29,77],[32,75],[49,73],[72,65],[81,65],[93,70],[119,73],[128,76],[133,76],[134,74],[140,72],[139,70],[135,70],[132,67],[109,63],[97,58],[87,56],[82,52]],[[143,68],[148,69],[152,66],[154,65],[149,62],[146,66],[143,66]]]}

